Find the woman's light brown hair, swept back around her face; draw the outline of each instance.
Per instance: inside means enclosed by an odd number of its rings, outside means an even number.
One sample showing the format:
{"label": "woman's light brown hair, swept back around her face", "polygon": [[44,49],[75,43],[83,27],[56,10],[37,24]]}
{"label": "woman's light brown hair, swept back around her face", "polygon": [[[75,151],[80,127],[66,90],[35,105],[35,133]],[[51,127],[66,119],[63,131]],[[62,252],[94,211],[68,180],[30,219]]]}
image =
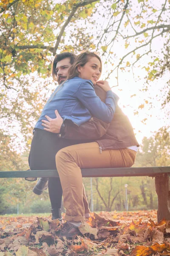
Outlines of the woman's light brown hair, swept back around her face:
{"label": "woman's light brown hair, swept back around her face", "polygon": [[68,71],[67,79],[74,78],[75,76],[79,76],[79,71],[77,70],[77,67],[84,66],[88,61],[89,58],[96,57],[100,61],[101,64],[101,73],[102,73],[102,61],[99,55],[96,54],[96,52],[90,52],[88,50],[82,51],[79,55],[76,56],[74,59],[73,65],[70,67]]}

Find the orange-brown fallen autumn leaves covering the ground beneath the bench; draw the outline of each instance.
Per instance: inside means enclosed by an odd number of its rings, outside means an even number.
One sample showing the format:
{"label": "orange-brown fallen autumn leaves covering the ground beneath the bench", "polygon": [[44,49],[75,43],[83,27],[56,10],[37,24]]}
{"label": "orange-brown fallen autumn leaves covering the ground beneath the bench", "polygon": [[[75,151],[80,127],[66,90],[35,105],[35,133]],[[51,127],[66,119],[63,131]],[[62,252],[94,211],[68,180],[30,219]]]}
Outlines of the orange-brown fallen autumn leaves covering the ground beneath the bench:
{"label": "orange-brown fallen autumn leaves covering the ground beneath the bench", "polygon": [[[0,224],[0,256],[170,255],[170,221],[156,223],[154,210],[91,213],[71,240],[57,236],[61,223],[50,218],[3,217]],[[15,227],[7,231],[8,224]]]}

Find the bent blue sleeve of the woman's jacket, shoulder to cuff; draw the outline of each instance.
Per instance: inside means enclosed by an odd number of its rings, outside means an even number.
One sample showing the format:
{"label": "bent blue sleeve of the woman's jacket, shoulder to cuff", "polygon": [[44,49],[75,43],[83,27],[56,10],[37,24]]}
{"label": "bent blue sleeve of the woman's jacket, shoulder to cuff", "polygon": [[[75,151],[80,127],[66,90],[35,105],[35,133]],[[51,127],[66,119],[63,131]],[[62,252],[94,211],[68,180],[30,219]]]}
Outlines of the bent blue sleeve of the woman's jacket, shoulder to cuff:
{"label": "bent blue sleeve of the woman's jacket, shoulder to cuff", "polygon": [[112,91],[106,93],[105,103],[96,95],[91,81],[83,81],[77,91],[77,98],[87,108],[93,117],[110,123],[116,109],[119,97]]}

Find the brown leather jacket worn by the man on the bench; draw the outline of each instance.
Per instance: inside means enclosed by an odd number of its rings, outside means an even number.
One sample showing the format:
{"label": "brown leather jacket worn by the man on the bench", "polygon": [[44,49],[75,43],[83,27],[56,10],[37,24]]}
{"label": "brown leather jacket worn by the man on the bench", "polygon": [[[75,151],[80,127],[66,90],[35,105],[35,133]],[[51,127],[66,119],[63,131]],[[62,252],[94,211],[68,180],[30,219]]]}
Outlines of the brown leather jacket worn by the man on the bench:
{"label": "brown leather jacket worn by the man on the bench", "polygon": [[[95,86],[97,96],[105,102],[106,93],[101,87]],[[119,106],[116,107],[114,117],[110,124],[102,120],[91,118],[81,126],[65,120],[64,131],[61,129],[58,134],[60,138],[69,140],[85,140],[85,142],[96,141],[100,149],[118,149],[137,145],[133,127],[128,117],[122,112]],[[77,142],[78,143],[78,142]]]}

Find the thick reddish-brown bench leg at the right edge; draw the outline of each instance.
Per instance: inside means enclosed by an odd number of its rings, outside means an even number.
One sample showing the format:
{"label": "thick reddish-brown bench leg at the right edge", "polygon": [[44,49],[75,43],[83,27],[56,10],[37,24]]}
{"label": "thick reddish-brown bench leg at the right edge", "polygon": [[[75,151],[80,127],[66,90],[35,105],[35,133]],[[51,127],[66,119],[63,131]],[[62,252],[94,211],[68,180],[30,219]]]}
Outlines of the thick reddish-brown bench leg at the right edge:
{"label": "thick reddish-brown bench leg at the right edge", "polygon": [[169,173],[155,176],[156,193],[158,195],[158,222],[163,218],[170,220],[170,178]]}

